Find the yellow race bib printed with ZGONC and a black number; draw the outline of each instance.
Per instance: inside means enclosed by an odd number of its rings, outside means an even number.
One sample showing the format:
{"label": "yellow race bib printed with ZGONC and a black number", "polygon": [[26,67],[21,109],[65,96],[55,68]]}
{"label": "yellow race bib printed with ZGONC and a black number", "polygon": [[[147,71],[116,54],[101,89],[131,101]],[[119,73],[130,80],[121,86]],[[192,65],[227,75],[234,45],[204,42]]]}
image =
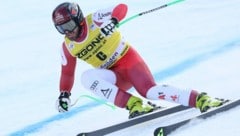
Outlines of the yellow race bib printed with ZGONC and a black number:
{"label": "yellow race bib printed with ZGONC and a black number", "polygon": [[109,68],[127,52],[129,46],[116,29],[105,36],[101,33],[101,28],[93,22],[92,14],[86,19],[86,39],[75,42],[65,37],[65,45],[72,56],[86,61],[93,67]]}

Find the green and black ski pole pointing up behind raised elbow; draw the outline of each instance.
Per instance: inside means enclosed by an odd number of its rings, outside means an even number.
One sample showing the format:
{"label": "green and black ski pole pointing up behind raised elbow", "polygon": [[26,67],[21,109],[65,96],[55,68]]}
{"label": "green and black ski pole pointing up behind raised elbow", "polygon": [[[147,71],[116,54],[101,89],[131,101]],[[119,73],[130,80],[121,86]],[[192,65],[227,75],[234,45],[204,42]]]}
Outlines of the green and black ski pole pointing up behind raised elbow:
{"label": "green and black ski pole pointing up behind raised elbow", "polygon": [[138,14],[136,14],[136,15],[133,15],[133,16],[131,16],[131,17],[123,20],[122,22],[120,22],[120,23],[117,25],[117,27],[120,27],[121,25],[125,24],[126,22],[128,22],[128,21],[130,21],[130,20],[133,20],[133,19],[135,19],[135,18],[137,18],[137,17],[139,17],[139,16],[142,16],[142,15],[145,15],[145,14],[148,14],[148,13],[151,13],[151,12],[154,12],[154,11],[157,11],[157,10],[160,10],[160,9],[162,9],[162,8],[166,8],[166,7],[168,7],[168,6],[177,4],[177,3],[182,2],[182,1],[184,1],[184,0],[175,0],[175,1],[169,2],[169,3],[167,3],[167,4],[164,4],[164,5],[162,5],[162,6],[159,6],[159,7],[157,7],[157,8],[150,9],[150,10],[147,10],[147,11],[144,11],[144,12],[141,12],[141,13],[138,13]]}

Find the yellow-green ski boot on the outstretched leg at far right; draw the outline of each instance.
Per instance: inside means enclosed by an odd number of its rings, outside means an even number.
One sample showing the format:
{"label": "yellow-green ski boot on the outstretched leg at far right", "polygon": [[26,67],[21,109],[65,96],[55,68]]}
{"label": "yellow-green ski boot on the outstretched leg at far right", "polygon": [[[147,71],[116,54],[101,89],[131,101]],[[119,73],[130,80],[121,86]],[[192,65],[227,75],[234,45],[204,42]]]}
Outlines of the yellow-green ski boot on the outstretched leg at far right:
{"label": "yellow-green ski boot on the outstretched leg at far right", "polygon": [[212,107],[219,107],[226,102],[227,100],[224,99],[211,98],[207,95],[207,93],[200,93],[197,96],[196,107],[199,108],[200,111],[203,113]]}

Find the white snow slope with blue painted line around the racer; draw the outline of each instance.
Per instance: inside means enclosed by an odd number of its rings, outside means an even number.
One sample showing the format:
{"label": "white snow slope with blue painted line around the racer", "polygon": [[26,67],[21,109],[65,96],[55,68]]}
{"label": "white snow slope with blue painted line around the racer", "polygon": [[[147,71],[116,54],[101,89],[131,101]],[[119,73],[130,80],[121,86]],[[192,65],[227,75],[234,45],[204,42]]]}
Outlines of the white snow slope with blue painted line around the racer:
{"label": "white snow slope with blue painted line around the racer", "polygon": [[[78,62],[72,102],[65,114],[55,109],[59,95],[59,49],[63,36],[55,30],[51,13],[63,0],[3,1],[0,5],[0,135],[76,135],[127,120],[125,109],[112,108],[89,95],[80,84]],[[75,1],[84,14],[119,3],[117,0]],[[131,17],[170,0],[122,0]],[[159,84],[193,88],[215,97],[240,97],[239,0],[186,0],[135,18],[120,27],[125,38],[144,57]],[[132,93],[136,92],[131,90]],[[105,103],[105,104],[103,104]],[[164,106],[174,104],[156,101]],[[187,112],[124,129],[115,135],[152,135],[154,128],[196,114]],[[194,121],[172,136],[238,136],[240,107],[204,121]],[[200,123],[201,122],[201,123]]]}

